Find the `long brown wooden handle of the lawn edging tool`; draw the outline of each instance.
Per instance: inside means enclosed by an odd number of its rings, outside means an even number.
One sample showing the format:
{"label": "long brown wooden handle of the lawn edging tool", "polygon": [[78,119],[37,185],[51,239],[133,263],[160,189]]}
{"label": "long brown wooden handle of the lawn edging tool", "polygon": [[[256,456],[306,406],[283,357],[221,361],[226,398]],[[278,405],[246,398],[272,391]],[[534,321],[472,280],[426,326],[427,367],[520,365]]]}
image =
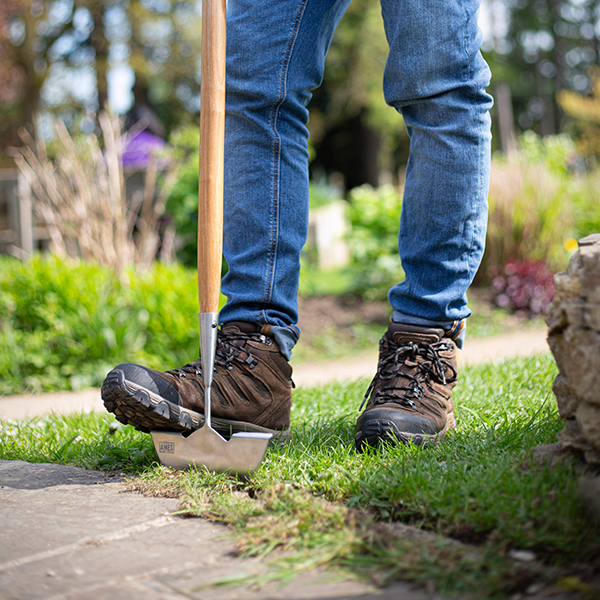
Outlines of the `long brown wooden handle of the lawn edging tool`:
{"label": "long brown wooden handle of the lawn edging tool", "polygon": [[219,310],[223,251],[226,0],[202,2],[198,299],[200,312]]}

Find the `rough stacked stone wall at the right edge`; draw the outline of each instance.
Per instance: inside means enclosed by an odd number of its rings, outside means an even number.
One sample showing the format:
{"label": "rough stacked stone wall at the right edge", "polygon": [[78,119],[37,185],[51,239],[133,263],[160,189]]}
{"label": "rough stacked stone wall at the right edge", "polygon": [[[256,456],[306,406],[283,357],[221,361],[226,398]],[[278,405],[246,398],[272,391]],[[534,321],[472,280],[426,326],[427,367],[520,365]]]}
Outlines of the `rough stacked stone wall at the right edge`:
{"label": "rough stacked stone wall at the right edge", "polygon": [[546,323],[559,369],[552,389],[565,419],[558,443],[600,467],[600,233],[579,240],[554,285]]}

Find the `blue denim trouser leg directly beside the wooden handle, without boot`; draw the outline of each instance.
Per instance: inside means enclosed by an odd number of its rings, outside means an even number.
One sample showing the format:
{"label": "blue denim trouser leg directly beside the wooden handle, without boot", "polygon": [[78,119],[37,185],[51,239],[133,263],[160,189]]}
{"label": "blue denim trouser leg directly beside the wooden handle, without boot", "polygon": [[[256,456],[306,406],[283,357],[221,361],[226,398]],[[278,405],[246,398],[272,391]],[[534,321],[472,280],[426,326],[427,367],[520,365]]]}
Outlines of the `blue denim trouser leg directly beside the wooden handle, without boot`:
{"label": "blue denim trouser leg directly beside the wooden handle, without boot", "polygon": [[308,111],[350,0],[230,0],[220,320],[264,324],[289,358],[308,231]]}

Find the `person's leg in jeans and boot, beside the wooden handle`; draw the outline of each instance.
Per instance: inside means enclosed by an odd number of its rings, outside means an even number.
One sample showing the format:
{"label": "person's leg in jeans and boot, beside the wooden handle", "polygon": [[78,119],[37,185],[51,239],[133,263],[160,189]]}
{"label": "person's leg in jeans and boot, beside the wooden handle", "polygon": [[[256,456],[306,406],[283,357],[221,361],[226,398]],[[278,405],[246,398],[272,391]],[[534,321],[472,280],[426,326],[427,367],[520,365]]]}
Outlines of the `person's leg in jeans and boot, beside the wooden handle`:
{"label": "person's leg in jeans and boot, beside the wooden handle", "polygon": [[[349,0],[229,0],[224,251],[215,429],[285,437],[300,251],[308,223],[308,104]],[[141,431],[202,425],[200,360],[165,373],[125,363],[106,408]]]}

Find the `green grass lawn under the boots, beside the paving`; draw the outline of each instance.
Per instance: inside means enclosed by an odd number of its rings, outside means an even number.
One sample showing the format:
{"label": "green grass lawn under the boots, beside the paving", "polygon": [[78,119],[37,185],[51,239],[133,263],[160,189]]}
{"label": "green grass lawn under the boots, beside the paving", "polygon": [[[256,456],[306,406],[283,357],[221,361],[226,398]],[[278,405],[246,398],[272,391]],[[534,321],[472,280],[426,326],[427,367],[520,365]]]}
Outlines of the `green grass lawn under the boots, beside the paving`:
{"label": "green grass lawn under the boots, beside the paving", "polygon": [[597,598],[600,528],[582,513],[577,475],[531,460],[562,427],[555,373],[550,355],[465,367],[444,443],[365,454],[353,437],[366,381],[297,389],[292,440],[246,481],[165,469],[150,436],[108,414],[2,423],[0,458],[129,473],[134,489],[232,524],[242,553],[287,550],[273,577],[328,566],[475,597],[541,585]]}

